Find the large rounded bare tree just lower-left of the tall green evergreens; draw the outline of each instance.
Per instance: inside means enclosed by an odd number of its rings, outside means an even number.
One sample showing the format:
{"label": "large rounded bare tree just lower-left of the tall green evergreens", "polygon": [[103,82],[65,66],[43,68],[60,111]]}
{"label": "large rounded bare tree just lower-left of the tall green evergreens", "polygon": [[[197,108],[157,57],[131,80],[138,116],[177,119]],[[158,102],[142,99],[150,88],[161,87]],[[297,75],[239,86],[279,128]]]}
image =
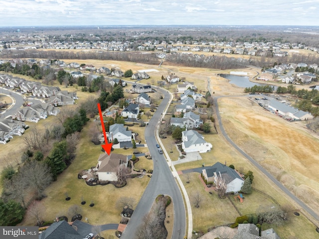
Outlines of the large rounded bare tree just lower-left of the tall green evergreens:
{"label": "large rounded bare tree just lower-left of the tall green evergreens", "polygon": [[52,182],[51,170],[46,163],[30,161],[25,163],[20,172],[37,198],[42,198],[44,190]]}

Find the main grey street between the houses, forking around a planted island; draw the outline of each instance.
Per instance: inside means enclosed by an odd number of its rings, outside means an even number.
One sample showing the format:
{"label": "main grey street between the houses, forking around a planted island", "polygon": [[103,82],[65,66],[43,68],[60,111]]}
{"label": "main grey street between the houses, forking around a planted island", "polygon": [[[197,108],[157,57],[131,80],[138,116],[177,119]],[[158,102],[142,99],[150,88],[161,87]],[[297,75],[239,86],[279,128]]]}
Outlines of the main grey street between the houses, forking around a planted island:
{"label": "main grey street between the houses, forking around a planted island", "polygon": [[184,201],[176,181],[167,165],[166,159],[158,152],[156,147],[158,142],[155,138],[155,129],[160,120],[161,113],[164,111],[170,99],[170,95],[166,90],[159,90],[164,93],[164,98],[150,120],[149,125],[145,129],[145,140],[154,161],[153,175],[121,239],[135,238],[133,235],[136,235],[137,229],[143,223],[144,216],[150,212],[154,200],[160,194],[169,195],[172,198],[174,208],[174,228],[172,239],[183,239],[185,236],[186,215]]}

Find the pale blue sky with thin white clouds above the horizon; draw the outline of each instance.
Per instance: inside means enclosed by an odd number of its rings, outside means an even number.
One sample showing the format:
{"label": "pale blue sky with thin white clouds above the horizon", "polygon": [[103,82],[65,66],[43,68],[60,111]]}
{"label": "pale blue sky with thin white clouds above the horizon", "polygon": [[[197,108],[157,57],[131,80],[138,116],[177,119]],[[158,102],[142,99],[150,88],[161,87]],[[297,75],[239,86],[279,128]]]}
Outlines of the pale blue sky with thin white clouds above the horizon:
{"label": "pale blue sky with thin white clouds above the horizon", "polygon": [[319,0],[1,0],[0,26],[309,25]]}

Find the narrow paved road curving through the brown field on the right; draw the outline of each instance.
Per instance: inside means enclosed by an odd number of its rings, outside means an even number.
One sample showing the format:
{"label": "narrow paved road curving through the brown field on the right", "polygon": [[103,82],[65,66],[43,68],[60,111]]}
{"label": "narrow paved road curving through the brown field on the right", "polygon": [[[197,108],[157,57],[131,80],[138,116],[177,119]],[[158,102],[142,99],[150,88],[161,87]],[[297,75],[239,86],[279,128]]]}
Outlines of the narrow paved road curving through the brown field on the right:
{"label": "narrow paved road curving through the brown field on the right", "polygon": [[258,168],[261,172],[263,172],[274,184],[276,184],[286,195],[288,195],[295,203],[297,203],[301,208],[303,208],[307,213],[309,213],[312,217],[314,217],[317,221],[319,221],[319,215],[315,213],[312,209],[310,209],[304,202],[298,199],[294,194],[292,194],[284,185],[282,185],[273,175],[271,175],[267,170],[265,170],[259,163],[257,163],[252,157],[246,154],[242,149],[240,149],[227,135],[223,124],[221,122],[219,109],[218,109],[218,100],[219,97],[214,97],[214,106],[216,109],[217,121],[219,124],[220,132],[223,134],[225,139],[235,148],[237,149],[244,157],[246,157],[256,168]]}

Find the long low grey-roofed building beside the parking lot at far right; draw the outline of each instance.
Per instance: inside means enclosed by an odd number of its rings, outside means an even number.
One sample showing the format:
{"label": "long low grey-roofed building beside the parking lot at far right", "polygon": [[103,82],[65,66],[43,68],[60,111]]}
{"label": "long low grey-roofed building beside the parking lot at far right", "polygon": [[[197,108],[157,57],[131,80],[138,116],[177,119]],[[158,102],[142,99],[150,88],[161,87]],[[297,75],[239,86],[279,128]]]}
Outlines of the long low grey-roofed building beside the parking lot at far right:
{"label": "long low grey-roofed building beside the parking lot at far right", "polygon": [[314,118],[309,112],[296,109],[275,99],[268,100],[268,108],[274,110],[276,114],[291,117],[294,120],[309,120]]}

